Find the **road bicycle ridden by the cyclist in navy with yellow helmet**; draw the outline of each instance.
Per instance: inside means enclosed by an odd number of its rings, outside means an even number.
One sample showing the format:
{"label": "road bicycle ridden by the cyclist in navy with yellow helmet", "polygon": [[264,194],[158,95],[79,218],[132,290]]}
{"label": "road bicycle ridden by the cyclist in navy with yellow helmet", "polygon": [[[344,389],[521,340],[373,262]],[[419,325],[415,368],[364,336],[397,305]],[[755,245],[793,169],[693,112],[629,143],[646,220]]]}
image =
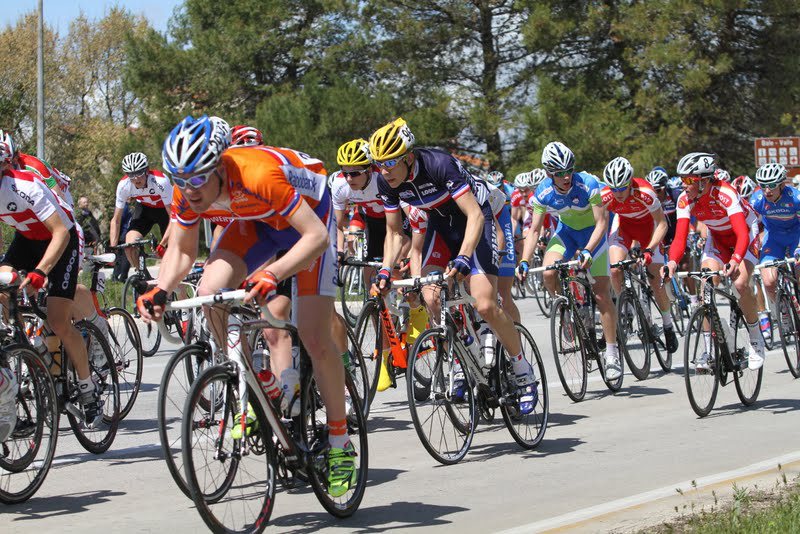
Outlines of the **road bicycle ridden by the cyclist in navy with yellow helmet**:
{"label": "road bicycle ridden by the cyclist in navy with yellow helmet", "polygon": [[533,336],[516,324],[523,354],[536,375],[534,409],[523,414],[514,369],[503,345],[495,344],[491,361],[479,352],[475,299],[463,284],[451,289],[450,280],[441,273],[394,282],[415,289],[428,284],[438,287],[439,324],[417,338],[406,369],[411,419],[425,450],[445,465],[461,461],[472,444],[478,415],[491,420],[497,408],[514,441],[525,449],[537,447],[547,429],[550,398]]}

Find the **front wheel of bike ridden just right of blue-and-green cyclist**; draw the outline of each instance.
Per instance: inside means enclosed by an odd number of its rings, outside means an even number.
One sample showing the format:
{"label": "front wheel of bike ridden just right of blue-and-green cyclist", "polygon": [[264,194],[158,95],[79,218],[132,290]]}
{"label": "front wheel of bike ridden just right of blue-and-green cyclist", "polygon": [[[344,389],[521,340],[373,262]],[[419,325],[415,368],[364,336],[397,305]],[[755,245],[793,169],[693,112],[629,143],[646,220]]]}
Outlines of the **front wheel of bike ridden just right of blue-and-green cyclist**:
{"label": "front wheel of bike ridden just right of blue-and-green cyclist", "polygon": [[[620,352],[624,354],[633,376],[637,380],[647,378],[650,374],[650,351],[653,344],[650,339],[650,324],[642,311],[642,303],[628,289],[617,299],[617,338]],[[637,341],[641,344],[640,347],[635,347]],[[635,357],[639,352],[641,357]]]}

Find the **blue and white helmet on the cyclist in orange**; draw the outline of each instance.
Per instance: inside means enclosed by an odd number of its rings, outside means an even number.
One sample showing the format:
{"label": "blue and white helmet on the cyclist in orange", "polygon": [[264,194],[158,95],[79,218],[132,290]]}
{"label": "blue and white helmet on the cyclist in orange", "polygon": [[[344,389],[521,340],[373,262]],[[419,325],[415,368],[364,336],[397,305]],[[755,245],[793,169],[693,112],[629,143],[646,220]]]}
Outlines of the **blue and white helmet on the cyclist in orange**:
{"label": "blue and white helmet on the cyclist in orange", "polygon": [[[223,125],[224,123],[224,125]],[[169,174],[200,174],[213,169],[230,143],[230,128],[207,115],[184,118],[164,141],[161,157]]]}

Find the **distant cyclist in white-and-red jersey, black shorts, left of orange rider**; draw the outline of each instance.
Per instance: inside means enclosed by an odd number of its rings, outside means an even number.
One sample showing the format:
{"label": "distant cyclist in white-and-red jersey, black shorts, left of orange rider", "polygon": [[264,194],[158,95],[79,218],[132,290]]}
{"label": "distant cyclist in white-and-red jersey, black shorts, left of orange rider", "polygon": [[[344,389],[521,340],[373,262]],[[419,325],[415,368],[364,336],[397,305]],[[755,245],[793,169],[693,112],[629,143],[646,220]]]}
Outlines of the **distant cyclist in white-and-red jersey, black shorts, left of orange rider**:
{"label": "distant cyclist in white-and-red jersey, black shorts, left of orange rider", "polygon": [[[153,225],[161,229],[161,241],[156,253],[164,255],[165,245],[169,240],[170,203],[172,202],[172,184],[160,171],[150,169],[147,156],[141,152],[133,152],[122,158],[122,170],[125,176],[117,184],[117,196],[114,201],[114,216],[111,218],[109,242],[117,246],[122,210],[131,200],[136,201],[125,242],[133,243],[150,233]],[[137,256],[134,249],[125,249],[125,255],[131,265],[136,265]]]}

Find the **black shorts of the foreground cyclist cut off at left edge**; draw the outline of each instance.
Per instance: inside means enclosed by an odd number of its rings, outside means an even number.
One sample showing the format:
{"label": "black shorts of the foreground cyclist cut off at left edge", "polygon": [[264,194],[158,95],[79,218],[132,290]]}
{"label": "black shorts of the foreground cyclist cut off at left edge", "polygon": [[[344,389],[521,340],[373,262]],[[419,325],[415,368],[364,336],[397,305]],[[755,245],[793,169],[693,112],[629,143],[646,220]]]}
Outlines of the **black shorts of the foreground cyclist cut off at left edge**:
{"label": "black shorts of the foreground cyclist cut off at left edge", "polygon": [[[8,247],[3,263],[11,265],[18,271],[30,272],[36,268],[47,250],[50,240],[37,241],[28,239],[19,232]],[[47,275],[47,294],[72,300],[75,297],[75,286],[78,285],[78,231],[75,227],[69,231],[69,243],[61,259]]]}

